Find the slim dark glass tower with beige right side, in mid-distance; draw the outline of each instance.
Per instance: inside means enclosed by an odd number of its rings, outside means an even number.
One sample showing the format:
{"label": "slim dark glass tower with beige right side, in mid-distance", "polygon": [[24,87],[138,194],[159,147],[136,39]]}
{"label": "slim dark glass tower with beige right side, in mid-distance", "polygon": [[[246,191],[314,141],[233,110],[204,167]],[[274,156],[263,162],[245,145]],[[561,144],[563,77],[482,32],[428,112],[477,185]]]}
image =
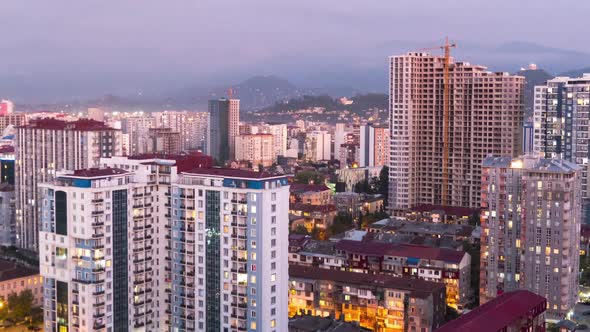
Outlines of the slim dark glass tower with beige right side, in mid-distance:
{"label": "slim dark glass tower with beige right side, in mid-distance", "polygon": [[235,158],[236,136],[240,133],[240,100],[209,101],[207,151],[220,162]]}

